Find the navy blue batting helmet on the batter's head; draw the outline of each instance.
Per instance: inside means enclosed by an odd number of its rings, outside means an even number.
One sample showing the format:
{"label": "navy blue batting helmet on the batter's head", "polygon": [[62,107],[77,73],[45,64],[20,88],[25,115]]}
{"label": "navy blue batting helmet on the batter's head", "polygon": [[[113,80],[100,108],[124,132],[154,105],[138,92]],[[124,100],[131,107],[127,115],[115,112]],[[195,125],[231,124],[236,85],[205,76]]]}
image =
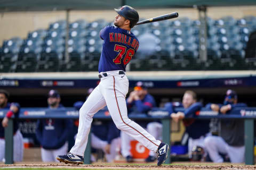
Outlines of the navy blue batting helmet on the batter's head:
{"label": "navy blue batting helmet on the batter's head", "polygon": [[134,27],[134,25],[139,21],[138,12],[131,6],[124,5],[119,10],[115,8],[115,11],[123,16],[125,19],[130,20],[130,27]]}

